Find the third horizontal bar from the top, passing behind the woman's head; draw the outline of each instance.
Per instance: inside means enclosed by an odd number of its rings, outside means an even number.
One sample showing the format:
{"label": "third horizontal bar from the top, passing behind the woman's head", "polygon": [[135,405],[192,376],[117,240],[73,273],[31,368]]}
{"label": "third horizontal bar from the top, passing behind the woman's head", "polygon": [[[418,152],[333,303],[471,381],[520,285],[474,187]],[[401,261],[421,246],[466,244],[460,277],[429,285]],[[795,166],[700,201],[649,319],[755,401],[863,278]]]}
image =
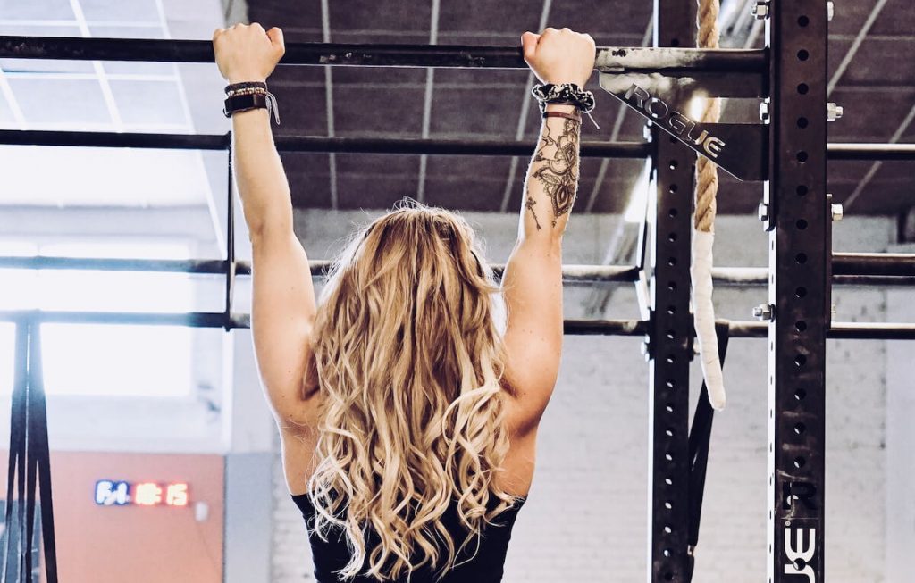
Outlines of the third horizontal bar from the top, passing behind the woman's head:
{"label": "third horizontal bar from the top, passing behind the woman's head", "polygon": [[[840,264],[848,265],[846,257],[867,254],[845,253]],[[883,258],[888,254],[879,254]],[[889,255],[889,257],[895,257]],[[901,256],[906,261],[915,256]],[[869,261],[866,259],[865,261]],[[881,260],[875,261],[874,272],[887,270]],[[330,266],[328,260],[310,261],[311,273],[318,277],[325,275]],[[0,269],[20,270],[96,270],[96,271],[156,271],[171,273],[203,273],[224,275],[227,269],[226,260],[134,260],[134,259],[100,259],[78,257],[0,257]],[[501,263],[492,265],[498,277],[501,277],[505,266]],[[845,269],[845,268],[843,268]],[[250,261],[236,261],[235,274],[251,275]],[[713,268],[712,279],[719,286],[758,286],[765,285],[769,270],[764,267],[719,267]],[[639,269],[630,265],[564,265],[563,281],[577,283],[630,283],[639,279]],[[915,285],[915,274],[908,276],[892,275],[845,275],[834,274],[834,285],[856,286],[908,286]]]}

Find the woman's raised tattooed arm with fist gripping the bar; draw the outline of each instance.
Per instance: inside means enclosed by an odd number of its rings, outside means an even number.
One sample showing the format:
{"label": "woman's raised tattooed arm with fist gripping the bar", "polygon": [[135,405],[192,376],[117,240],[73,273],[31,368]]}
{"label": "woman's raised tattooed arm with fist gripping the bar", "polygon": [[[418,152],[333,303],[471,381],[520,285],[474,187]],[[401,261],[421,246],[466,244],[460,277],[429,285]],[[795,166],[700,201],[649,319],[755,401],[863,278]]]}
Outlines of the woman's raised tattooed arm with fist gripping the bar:
{"label": "woman's raised tattooed arm with fist gripping the bar", "polygon": [[[545,83],[584,87],[594,69],[594,40],[568,28],[524,33],[524,59]],[[547,111],[575,111],[551,104]],[[508,321],[506,377],[513,389],[509,424],[531,434],[559,372],[563,344],[562,237],[578,187],[580,122],[545,118],[528,168],[518,242],[502,278]]]}

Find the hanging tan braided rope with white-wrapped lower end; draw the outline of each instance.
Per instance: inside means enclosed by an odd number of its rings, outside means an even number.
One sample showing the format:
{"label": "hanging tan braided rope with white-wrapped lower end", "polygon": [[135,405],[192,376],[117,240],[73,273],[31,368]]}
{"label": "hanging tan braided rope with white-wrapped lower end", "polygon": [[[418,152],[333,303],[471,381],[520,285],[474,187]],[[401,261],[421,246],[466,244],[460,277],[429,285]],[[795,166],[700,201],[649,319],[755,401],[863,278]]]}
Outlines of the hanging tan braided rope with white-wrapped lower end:
{"label": "hanging tan braided rope with white-wrapped lower end", "polygon": [[[699,5],[696,24],[698,48],[718,48],[719,0],[697,0]],[[716,123],[721,117],[721,101],[706,99],[702,117],[704,123]],[[715,242],[716,196],[718,194],[718,167],[699,156],[695,164],[695,214],[693,235],[693,312],[696,341],[702,373],[708,386],[708,400],[712,407],[725,408],[725,386],[718,359],[718,341],[715,334],[715,308],[712,304],[712,247]]]}

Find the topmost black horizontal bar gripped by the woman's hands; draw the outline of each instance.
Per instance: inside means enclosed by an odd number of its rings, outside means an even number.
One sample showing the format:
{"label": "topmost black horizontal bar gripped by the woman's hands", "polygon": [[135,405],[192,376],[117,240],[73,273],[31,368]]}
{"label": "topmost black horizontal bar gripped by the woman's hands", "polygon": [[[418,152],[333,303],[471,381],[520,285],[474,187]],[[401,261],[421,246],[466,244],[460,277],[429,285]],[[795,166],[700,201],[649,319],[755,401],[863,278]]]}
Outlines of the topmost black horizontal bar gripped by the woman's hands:
{"label": "topmost black horizontal bar gripped by the woman's hands", "polygon": [[[147,38],[0,37],[0,58],[212,63],[209,40]],[[282,65],[527,69],[520,46],[289,43]],[[759,49],[597,48],[596,67],[608,72],[762,72]]]}

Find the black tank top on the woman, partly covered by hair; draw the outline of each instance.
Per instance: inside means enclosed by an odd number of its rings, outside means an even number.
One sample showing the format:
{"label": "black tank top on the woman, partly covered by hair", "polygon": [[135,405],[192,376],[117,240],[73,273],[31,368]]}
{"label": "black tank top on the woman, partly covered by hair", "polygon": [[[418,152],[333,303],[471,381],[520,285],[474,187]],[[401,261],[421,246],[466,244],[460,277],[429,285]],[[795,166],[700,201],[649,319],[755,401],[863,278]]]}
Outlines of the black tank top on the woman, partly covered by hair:
{"label": "black tank top on the woman, partly covered by hair", "polygon": [[[323,541],[315,534],[312,526],[315,524],[315,508],[308,499],[307,494],[298,494],[292,497],[293,501],[302,511],[308,527],[308,541],[311,543],[311,553],[315,559],[315,579],[318,583],[338,583],[337,571],[346,566],[350,561],[350,551],[347,549],[346,537],[342,531],[335,531],[328,535],[328,540]],[[511,508],[499,514],[493,522],[494,525],[485,525],[479,541],[479,549],[474,541],[468,544],[463,553],[459,553],[455,563],[458,567],[448,571],[439,579],[439,583],[500,583],[502,568],[505,564],[505,554],[508,551],[511,539],[511,527],[514,525],[518,511],[525,499],[519,498]],[[498,504],[498,503],[497,503]],[[467,535],[458,517],[458,504],[453,503],[442,515],[442,524],[460,545]],[[377,537],[369,534],[366,543],[369,548],[377,544]],[[476,557],[468,560],[476,551]],[[402,579],[404,582],[406,578]],[[357,576],[347,579],[351,583],[377,583],[377,579]],[[427,566],[413,572],[410,583],[433,583],[436,581],[436,571]],[[400,583],[400,580],[395,582]]]}

